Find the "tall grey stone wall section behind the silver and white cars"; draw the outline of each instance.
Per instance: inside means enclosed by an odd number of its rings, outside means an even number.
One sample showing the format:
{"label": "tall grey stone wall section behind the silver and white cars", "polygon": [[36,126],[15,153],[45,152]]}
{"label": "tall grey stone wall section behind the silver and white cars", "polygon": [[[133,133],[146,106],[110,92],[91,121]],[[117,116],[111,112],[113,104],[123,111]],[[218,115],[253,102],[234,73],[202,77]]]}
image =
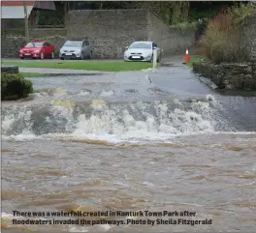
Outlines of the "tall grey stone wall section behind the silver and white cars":
{"label": "tall grey stone wall section behind the silver and white cars", "polygon": [[88,37],[94,58],[122,58],[134,41],[154,41],[169,54],[183,54],[194,42],[195,29],[170,28],[146,10],[72,11],[66,23],[69,38]]}

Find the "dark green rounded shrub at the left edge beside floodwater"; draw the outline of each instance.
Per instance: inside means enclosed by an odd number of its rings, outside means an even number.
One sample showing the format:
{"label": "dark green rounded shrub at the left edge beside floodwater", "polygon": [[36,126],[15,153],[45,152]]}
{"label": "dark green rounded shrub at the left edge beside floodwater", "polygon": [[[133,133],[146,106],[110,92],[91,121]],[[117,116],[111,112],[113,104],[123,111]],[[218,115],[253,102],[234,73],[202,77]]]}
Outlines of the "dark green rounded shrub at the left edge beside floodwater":
{"label": "dark green rounded shrub at the left edge beside floodwater", "polygon": [[16,101],[33,93],[33,85],[18,73],[1,73],[1,100]]}

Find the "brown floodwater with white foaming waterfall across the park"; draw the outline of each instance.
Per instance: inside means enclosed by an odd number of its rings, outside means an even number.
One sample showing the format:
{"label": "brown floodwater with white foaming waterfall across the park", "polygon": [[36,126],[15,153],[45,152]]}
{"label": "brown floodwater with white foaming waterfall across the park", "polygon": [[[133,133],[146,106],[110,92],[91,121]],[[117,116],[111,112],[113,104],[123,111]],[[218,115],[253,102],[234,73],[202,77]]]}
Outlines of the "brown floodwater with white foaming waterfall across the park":
{"label": "brown floodwater with white foaming waterfall across the park", "polygon": [[[187,87],[168,73],[37,77],[29,100],[2,102],[2,229],[255,232],[256,99],[220,96],[184,73]],[[61,211],[109,214],[46,214]]]}

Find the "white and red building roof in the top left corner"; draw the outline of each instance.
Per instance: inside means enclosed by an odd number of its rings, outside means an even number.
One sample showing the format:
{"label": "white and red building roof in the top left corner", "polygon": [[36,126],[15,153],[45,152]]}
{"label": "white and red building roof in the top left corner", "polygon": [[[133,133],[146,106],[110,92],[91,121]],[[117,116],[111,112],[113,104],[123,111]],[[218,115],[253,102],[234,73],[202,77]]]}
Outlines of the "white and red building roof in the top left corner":
{"label": "white and red building roof in the top left corner", "polygon": [[[1,1],[1,18],[24,18],[24,1]],[[29,16],[32,9],[55,10],[52,1],[25,1],[27,15]]]}

